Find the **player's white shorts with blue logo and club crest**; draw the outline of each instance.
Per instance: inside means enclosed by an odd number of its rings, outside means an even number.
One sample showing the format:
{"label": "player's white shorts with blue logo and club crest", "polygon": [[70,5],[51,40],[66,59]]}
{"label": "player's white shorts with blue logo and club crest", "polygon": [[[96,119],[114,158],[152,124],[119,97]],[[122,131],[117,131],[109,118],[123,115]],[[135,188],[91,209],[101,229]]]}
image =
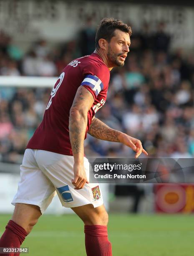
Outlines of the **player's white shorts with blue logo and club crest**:
{"label": "player's white shorts with blue logo and club crest", "polygon": [[[38,205],[40,211],[46,210],[53,197],[58,194],[64,207],[78,207],[103,204],[99,184],[85,184],[83,189],[74,189],[73,156],[45,150],[26,149],[20,166],[20,182],[12,204],[25,203]],[[89,162],[84,157],[84,167],[89,180]]]}

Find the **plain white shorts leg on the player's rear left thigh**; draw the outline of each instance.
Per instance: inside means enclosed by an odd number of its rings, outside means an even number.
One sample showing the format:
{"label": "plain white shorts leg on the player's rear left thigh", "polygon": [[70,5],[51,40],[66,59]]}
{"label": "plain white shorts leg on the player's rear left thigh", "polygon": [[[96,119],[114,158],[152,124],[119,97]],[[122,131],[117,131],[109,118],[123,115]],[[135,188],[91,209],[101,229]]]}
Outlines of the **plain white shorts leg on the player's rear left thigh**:
{"label": "plain white shorts leg on the player's rear left thigh", "polygon": [[26,149],[20,171],[18,191],[12,204],[37,205],[43,213],[56,192],[53,184],[43,174],[35,161],[35,150]]}

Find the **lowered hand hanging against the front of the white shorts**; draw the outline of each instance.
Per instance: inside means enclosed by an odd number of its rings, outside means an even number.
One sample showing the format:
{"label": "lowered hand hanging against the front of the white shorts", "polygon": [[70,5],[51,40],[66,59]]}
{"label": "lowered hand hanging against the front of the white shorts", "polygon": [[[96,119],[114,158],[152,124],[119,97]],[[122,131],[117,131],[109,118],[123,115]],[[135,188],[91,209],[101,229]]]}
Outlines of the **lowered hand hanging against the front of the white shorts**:
{"label": "lowered hand hanging against the front of the white shorts", "polygon": [[71,183],[75,186],[74,189],[82,189],[86,183],[89,183],[83,164],[74,164],[73,172],[74,179],[71,180]]}

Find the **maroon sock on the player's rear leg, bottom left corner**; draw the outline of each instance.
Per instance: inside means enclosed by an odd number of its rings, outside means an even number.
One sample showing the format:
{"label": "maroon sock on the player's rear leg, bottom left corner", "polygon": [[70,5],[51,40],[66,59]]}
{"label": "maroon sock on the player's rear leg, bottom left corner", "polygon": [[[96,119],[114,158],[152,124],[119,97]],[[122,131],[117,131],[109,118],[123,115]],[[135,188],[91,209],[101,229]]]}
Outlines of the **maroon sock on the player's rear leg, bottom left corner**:
{"label": "maroon sock on the player's rear leg, bottom left corner", "polygon": [[[5,232],[0,238],[0,247],[17,247],[20,248],[20,245],[23,243],[25,237],[27,236],[27,232],[20,225],[15,223],[13,220],[8,222],[8,225],[5,227]],[[5,256],[13,256],[19,255],[8,253],[3,254]]]}

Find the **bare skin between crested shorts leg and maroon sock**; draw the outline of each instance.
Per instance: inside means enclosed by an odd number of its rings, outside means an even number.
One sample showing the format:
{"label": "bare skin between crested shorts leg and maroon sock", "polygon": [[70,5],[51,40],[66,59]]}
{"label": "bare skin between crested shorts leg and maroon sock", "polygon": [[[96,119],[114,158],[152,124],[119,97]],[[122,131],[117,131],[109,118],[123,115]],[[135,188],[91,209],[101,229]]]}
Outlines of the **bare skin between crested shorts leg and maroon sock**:
{"label": "bare skin between crested shorts leg and maroon sock", "polygon": [[107,225],[108,223],[108,213],[104,205],[94,208],[89,204],[71,209],[83,220],[85,225]]}

